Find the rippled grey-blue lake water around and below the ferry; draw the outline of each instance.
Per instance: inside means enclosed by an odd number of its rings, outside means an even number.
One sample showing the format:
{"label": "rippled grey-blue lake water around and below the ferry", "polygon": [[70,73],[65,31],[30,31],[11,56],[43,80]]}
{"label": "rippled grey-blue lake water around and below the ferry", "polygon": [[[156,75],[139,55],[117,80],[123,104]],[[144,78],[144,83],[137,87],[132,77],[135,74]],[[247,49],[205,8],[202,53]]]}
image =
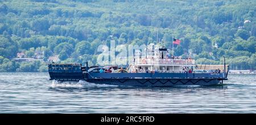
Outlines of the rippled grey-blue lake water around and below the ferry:
{"label": "rippled grey-blue lake water around and below the ferry", "polygon": [[0,113],[256,113],[256,75],[223,86],[56,83],[48,73],[0,73]]}

